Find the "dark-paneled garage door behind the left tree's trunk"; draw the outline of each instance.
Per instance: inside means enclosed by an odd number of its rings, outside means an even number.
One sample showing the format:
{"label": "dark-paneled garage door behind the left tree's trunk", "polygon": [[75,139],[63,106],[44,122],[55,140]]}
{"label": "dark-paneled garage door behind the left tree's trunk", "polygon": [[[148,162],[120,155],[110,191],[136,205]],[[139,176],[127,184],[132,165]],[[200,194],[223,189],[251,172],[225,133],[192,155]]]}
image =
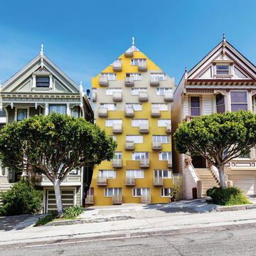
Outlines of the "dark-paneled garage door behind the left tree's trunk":
{"label": "dark-paneled garage door behind the left tree's trunk", "polygon": [[[63,208],[74,206],[75,190],[74,189],[61,189],[61,200]],[[54,190],[46,190],[46,213],[57,210]]]}

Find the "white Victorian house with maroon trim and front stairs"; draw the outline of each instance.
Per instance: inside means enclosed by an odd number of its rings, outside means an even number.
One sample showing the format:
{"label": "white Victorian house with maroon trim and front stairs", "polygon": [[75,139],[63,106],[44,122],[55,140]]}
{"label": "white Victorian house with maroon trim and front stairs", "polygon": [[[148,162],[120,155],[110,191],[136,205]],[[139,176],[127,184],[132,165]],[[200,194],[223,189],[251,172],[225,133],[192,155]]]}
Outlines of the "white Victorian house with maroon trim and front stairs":
{"label": "white Victorian house with maroon trim and front stairs", "polygon": [[[178,124],[213,112],[250,110],[256,113],[256,67],[225,41],[185,72],[174,93],[171,109],[173,133]],[[256,192],[256,154],[233,159],[225,166],[225,178],[246,194]],[[195,156],[192,159],[174,151],[174,171],[183,174],[184,197],[192,198],[192,188],[202,181],[202,193],[218,186],[218,171]]]}

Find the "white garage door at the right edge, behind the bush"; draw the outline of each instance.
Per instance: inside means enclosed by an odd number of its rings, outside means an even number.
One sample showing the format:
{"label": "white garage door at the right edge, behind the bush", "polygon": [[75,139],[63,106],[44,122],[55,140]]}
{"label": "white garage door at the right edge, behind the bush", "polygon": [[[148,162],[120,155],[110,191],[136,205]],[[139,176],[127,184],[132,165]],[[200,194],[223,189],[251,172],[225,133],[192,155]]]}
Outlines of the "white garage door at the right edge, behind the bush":
{"label": "white garage door at the right edge, behind the bush", "polygon": [[228,180],[233,181],[233,186],[241,188],[245,195],[254,195],[256,192],[254,175],[229,175]]}

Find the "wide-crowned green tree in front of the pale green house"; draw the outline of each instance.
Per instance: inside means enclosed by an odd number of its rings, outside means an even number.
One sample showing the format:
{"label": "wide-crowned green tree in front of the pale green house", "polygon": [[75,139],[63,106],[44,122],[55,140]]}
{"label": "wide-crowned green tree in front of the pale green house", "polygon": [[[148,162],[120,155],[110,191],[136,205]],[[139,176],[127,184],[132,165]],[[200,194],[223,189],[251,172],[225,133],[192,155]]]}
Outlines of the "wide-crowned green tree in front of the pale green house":
{"label": "wide-crowned green tree in front of the pale green house", "polygon": [[29,169],[53,183],[63,213],[60,183],[73,169],[114,157],[117,143],[96,124],[67,114],[34,116],[7,124],[0,133],[0,161],[14,171]]}

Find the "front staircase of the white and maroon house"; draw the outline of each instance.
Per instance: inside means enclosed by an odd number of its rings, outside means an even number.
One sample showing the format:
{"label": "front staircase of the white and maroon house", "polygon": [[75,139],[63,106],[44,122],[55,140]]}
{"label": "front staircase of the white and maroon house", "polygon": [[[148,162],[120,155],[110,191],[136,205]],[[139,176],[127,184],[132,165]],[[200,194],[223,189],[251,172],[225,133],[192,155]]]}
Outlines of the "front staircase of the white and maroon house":
{"label": "front staircase of the white and maroon house", "polygon": [[210,168],[196,168],[196,174],[198,175],[199,181],[202,181],[202,196],[206,196],[206,191],[209,188],[213,188],[214,186],[219,187],[220,183],[218,179],[215,177]]}

